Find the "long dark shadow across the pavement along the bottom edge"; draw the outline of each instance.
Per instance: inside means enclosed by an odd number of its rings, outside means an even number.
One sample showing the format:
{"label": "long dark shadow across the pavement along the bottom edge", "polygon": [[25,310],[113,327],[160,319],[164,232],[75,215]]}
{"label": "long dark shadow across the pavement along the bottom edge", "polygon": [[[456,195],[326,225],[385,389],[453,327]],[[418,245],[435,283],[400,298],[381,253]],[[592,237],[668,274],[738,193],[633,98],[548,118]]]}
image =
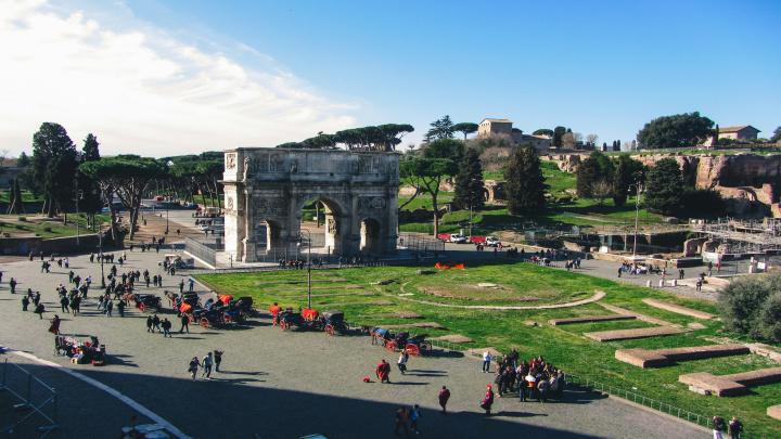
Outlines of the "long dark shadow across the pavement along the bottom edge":
{"label": "long dark shadow across the pavement along the bottom edge", "polygon": [[[51,374],[41,365],[27,365],[33,374]],[[392,438],[396,403],[377,402],[359,398],[342,398],[278,388],[243,386],[249,379],[231,378],[229,373],[215,373],[217,379],[191,380],[182,367],[182,377],[161,377],[137,373],[116,373],[94,367],[74,367],[132,398],[176,427],[194,438],[297,438],[322,434],[329,438]],[[225,376],[225,378],[222,378]],[[313,383],[317,387],[317,383]],[[371,385],[367,385],[371,386]],[[380,386],[374,384],[374,386]],[[67,392],[67,389],[62,389]],[[94,393],[94,392],[93,392]],[[71,395],[69,404],[61,406],[62,429],[59,437],[84,437],[85,426],[93,428],[95,410],[106,403],[116,403],[113,397],[99,392],[89,399]],[[105,399],[103,398],[105,397]],[[423,409],[420,428],[424,435],[437,438],[477,437],[540,437],[588,438],[590,436],[565,431],[521,421],[539,416],[523,411],[501,411],[486,416],[477,406],[482,395],[456,396],[475,400],[474,412],[448,415]],[[77,402],[75,402],[75,401]],[[431,401],[404,401],[405,405],[419,403],[435,406]],[[523,406],[521,406],[522,409]],[[504,418],[503,418],[504,417]],[[225,419],[244,419],[226,423]],[[121,423],[121,421],[115,421]],[[123,425],[105,426],[91,430],[92,437],[116,437]],[[257,435],[257,436],[256,436]]]}

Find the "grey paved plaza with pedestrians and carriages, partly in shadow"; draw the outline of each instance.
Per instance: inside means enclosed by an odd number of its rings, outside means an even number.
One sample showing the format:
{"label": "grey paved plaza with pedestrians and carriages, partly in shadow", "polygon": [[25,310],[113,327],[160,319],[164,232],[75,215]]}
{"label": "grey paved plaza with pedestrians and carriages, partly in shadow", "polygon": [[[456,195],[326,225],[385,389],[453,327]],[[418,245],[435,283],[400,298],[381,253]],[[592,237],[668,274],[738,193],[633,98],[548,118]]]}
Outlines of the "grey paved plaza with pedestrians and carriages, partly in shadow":
{"label": "grey paved plaza with pedestrians and carriages, partly in shadow", "polygon": [[[156,262],[162,254],[128,255],[125,270],[146,268],[153,274],[158,270]],[[100,283],[100,266],[90,264],[86,257],[72,258],[72,268],[82,277],[92,274]],[[67,271],[55,269],[51,274],[41,274],[38,261],[3,263],[2,270],[0,345],[78,370],[196,438],[296,438],[313,432],[330,438],[393,437],[394,410],[412,403],[423,408],[420,426],[422,436],[430,437],[706,435],[693,425],[582,391],[568,391],[564,402],[548,404],[498,399],[496,415],[488,418],[481,414],[477,401],[492,375],[479,373],[477,361],[456,353],[413,358],[408,375],[401,377],[394,370],[394,384],[364,384],[361,377],[371,375],[380,359],[392,363],[396,359],[371,346],[368,337],[282,333],[270,327],[268,320],[258,319],[233,330],[193,327],[191,334],[163,338],[146,333],[143,314],[132,310],[121,319],[116,317],[115,308],[115,317],[106,318],[95,311],[93,299],[82,306],[81,315],[61,313],[62,331],[78,337],[99,336],[107,347],[110,363],[104,367],[71,365],[53,354],[48,321],[22,312],[21,296],[11,296],[8,289],[10,276],[17,277],[18,290],[40,289],[47,308],[59,311],[54,286],[67,281]],[[180,279],[164,275],[164,285],[174,289]],[[47,312],[46,317],[51,315]],[[174,327],[178,330],[178,323]],[[189,359],[217,348],[226,352],[223,372],[215,374],[213,380],[190,380],[185,372]],[[116,437],[119,427],[128,424],[132,411],[115,398],[62,372],[36,364],[29,367],[65,396],[61,403],[61,437]],[[441,385],[452,391],[452,414],[447,416],[435,412]]]}

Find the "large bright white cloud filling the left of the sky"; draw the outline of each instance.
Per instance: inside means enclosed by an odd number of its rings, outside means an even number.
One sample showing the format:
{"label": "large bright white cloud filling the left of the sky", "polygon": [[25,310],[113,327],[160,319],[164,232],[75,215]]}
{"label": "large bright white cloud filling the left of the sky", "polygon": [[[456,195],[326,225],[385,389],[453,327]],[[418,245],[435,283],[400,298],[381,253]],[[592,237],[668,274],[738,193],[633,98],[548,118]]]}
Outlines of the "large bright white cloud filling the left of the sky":
{"label": "large bright white cloud filling the left of the sky", "polygon": [[355,125],[354,108],[287,72],[247,68],[146,24],[112,30],[43,0],[0,0],[0,146],[12,155],[29,153],[42,121],[62,124],[77,144],[95,133],[103,154],[153,156],[273,146]]}

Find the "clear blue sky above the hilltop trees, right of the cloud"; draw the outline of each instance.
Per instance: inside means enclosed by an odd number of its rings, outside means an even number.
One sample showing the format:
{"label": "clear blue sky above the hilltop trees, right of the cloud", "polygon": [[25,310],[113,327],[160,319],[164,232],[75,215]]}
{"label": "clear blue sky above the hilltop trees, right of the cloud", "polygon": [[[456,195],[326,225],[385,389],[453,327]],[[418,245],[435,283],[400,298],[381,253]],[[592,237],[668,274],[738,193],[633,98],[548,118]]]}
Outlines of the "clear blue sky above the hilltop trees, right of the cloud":
{"label": "clear blue sky above the hilltop trees, right of the cloud", "polygon": [[[295,128],[266,137],[236,134],[225,142],[270,146],[321,129],[383,122],[412,124],[417,133],[409,140],[415,142],[444,114],[475,122],[509,117],[527,132],[563,125],[584,135],[597,133],[600,142],[631,140],[653,117],[690,111],[721,126],[752,124],[760,135],[781,125],[778,1],[141,0],[51,5],[62,14],[81,11],[102,28],[143,29],[205,55],[225,56],[242,69],[261,73],[258,83],[282,78],[290,83],[279,101],[308,108],[294,117]],[[201,77],[193,68],[187,70]],[[174,80],[176,76],[166,79]],[[296,90],[306,92],[304,102],[295,100]],[[253,112],[258,118],[273,113]],[[269,127],[259,124],[258,129],[274,131]],[[93,128],[99,137],[100,128]],[[127,143],[111,135],[116,144]],[[188,144],[234,146],[204,135],[205,144],[191,139]],[[181,145],[174,142],[171,147]]]}

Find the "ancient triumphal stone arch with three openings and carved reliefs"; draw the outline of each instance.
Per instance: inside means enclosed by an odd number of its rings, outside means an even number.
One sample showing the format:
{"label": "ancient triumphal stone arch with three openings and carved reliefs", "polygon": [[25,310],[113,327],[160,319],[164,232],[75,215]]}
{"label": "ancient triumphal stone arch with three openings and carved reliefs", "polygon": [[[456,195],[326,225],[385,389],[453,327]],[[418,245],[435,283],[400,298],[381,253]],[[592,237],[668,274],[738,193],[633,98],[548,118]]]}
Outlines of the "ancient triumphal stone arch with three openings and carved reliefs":
{"label": "ancient triumphal stone arch with three openings and carved reliefs", "polygon": [[[240,147],[225,153],[225,251],[254,262],[297,255],[302,237],[331,255],[396,249],[399,155]],[[302,235],[303,208],[324,206],[324,238]],[[319,244],[317,244],[319,243]]]}

